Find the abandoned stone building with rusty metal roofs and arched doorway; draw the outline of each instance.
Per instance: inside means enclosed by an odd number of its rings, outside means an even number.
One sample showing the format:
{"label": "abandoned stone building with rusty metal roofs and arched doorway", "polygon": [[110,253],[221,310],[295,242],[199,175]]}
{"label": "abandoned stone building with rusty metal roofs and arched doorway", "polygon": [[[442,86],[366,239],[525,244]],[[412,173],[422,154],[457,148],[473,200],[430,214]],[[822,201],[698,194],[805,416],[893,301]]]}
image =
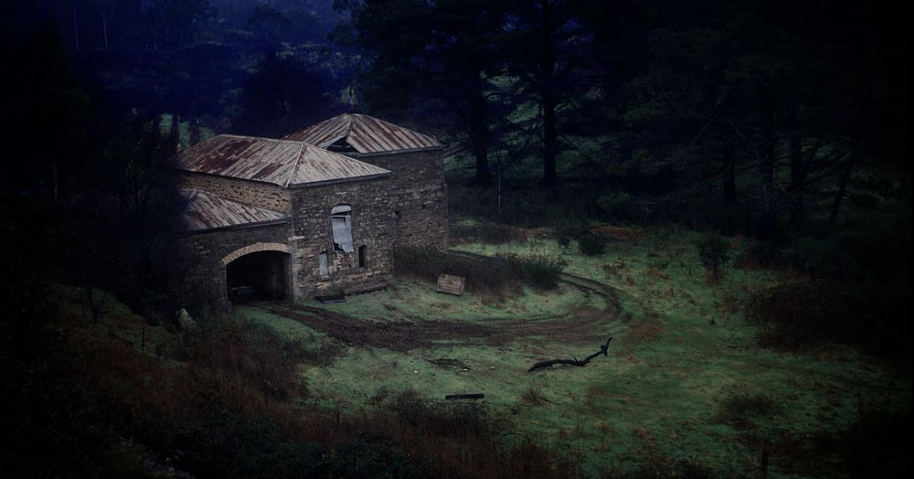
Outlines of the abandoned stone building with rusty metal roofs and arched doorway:
{"label": "abandoned stone building with rusty metal roofs and arched doorway", "polygon": [[[315,133],[341,119],[349,124],[324,149]],[[283,140],[223,134],[191,146],[175,161],[191,289],[218,309],[388,285],[396,244],[446,247],[441,152],[434,138],[365,115]]]}

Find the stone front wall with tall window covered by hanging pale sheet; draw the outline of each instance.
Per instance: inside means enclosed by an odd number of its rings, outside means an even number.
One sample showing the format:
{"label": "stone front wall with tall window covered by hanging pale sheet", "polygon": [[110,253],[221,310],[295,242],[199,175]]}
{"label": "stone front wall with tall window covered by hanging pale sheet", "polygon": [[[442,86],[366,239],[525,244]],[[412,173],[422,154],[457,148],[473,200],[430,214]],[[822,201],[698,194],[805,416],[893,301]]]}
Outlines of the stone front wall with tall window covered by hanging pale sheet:
{"label": "stone front wall with tall window covered by hanging pale sheet", "polygon": [[[292,191],[292,281],[295,298],[328,293],[356,293],[392,280],[395,238],[394,209],[388,194],[389,177],[335,185],[299,187]],[[331,209],[352,207],[355,251],[334,250]],[[358,265],[358,249],[367,249],[366,266]],[[320,254],[326,251],[327,274]]]}

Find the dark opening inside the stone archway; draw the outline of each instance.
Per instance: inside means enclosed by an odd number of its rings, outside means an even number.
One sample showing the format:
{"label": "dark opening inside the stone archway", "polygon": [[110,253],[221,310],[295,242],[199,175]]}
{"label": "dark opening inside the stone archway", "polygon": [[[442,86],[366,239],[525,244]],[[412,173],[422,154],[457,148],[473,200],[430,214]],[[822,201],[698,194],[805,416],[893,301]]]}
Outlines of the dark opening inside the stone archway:
{"label": "dark opening inside the stone archway", "polygon": [[226,291],[233,303],[285,297],[289,255],[279,251],[246,254],[226,266]]}

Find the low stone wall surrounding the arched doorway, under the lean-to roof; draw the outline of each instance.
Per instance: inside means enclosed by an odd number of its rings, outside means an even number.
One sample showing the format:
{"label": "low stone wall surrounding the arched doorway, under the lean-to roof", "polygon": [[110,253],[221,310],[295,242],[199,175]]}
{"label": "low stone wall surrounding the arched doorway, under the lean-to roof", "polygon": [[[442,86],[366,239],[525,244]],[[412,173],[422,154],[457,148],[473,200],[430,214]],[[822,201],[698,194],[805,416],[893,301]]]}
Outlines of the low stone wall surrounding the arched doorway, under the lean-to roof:
{"label": "low stone wall surrounding the arched doorway, under the lean-to roof", "polygon": [[[199,310],[223,311],[228,308],[226,266],[223,262],[262,250],[291,250],[288,245],[289,224],[257,228],[217,229],[187,235],[179,239],[186,258],[179,280],[188,292],[186,305]],[[290,261],[292,257],[290,256]],[[292,267],[286,277],[286,297],[292,297]]]}

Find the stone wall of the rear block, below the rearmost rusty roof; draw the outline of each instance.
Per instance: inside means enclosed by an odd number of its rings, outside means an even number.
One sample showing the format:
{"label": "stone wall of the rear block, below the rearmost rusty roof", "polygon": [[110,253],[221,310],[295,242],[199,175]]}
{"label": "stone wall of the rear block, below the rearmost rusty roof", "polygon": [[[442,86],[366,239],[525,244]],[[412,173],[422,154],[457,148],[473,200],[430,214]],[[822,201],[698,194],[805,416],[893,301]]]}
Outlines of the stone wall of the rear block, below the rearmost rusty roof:
{"label": "stone wall of the rear block, below the rearmost rusty roof", "polygon": [[442,155],[438,150],[356,156],[394,172],[390,194],[398,244],[448,247],[448,192]]}

